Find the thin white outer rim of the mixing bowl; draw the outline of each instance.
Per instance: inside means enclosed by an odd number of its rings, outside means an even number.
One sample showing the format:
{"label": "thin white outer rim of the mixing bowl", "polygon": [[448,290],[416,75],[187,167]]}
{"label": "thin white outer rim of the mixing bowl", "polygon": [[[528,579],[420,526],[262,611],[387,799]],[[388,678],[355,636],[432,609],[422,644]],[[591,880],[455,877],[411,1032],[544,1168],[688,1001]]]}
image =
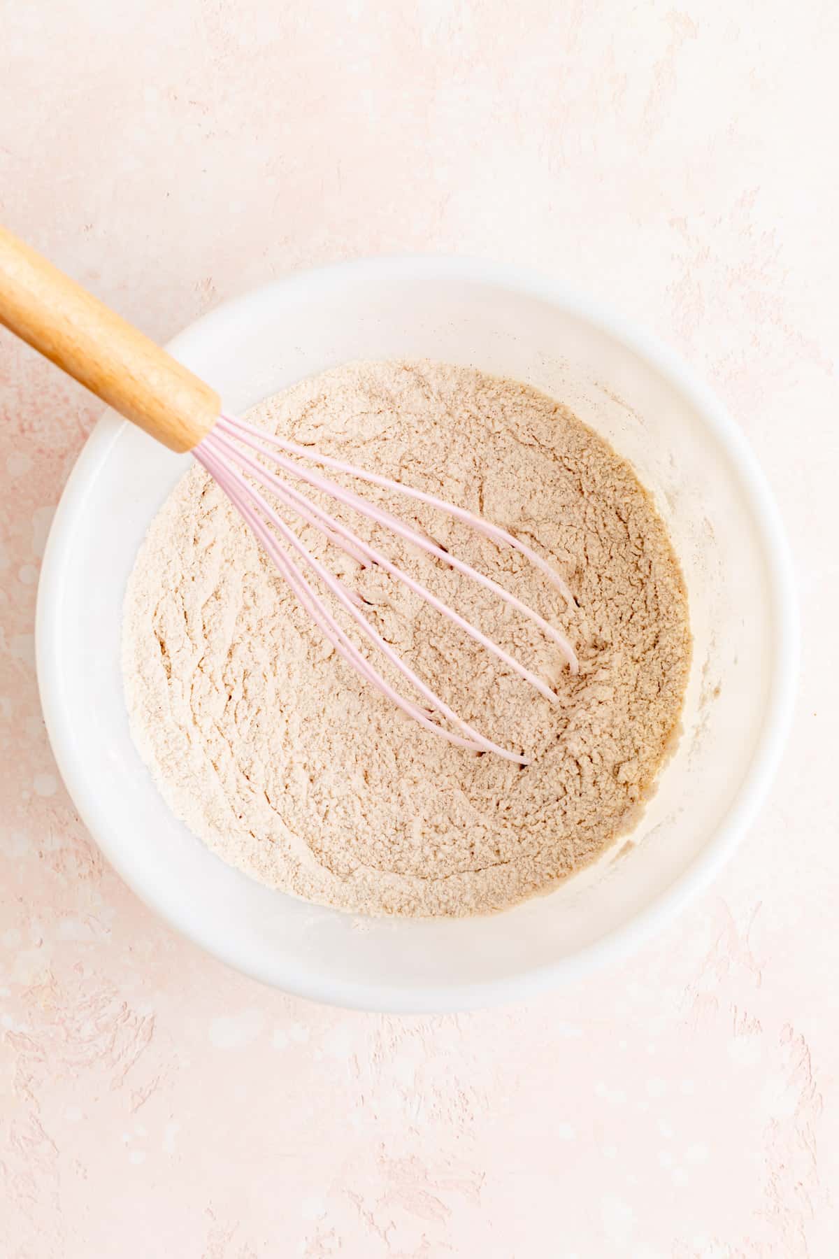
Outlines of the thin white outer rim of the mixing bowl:
{"label": "thin white outer rim of the mixing bowl", "polygon": [[[795,578],[789,544],[780,512],[764,472],[745,434],[728,414],[709,385],[655,335],[633,325],[626,317],[604,303],[585,297],[562,282],[518,267],[481,259],[434,254],[376,256],[331,263],[275,279],[220,303],[208,315],[195,320],[166,349],[177,358],[184,341],[196,334],[214,334],[231,319],[247,317],[255,307],[270,306],[278,292],[288,295],[296,287],[311,292],[312,285],[332,283],[341,276],[364,278],[366,274],[460,278],[497,285],[558,306],[600,331],[611,335],[644,359],[660,376],[681,392],[701,413],[726,451],[746,494],[755,525],[765,551],[770,585],[770,608],[774,619],[774,656],[770,663],[766,716],[755,753],[723,823],[702,851],[681,875],[658,894],[628,923],[604,935],[580,952],[501,980],[452,987],[419,987],[403,990],[394,985],[351,983],[342,980],[299,982],[293,964],[287,964],[278,977],[260,953],[248,956],[219,939],[211,925],[204,930],[190,929],[176,915],[155,901],[148,888],[140,889],[121,861],[121,845],[111,838],[111,827],[98,807],[97,793],[89,782],[84,758],[73,734],[72,714],[62,704],[60,675],[54,651],[60,633],[57,608],[60,603],[64,559],[73,540],[73,520],[79,510],[88,480],[107,457],[122,426],[112,413],[106,413],[94,426],[82,447],[62,492],[44,550],[35,612],[35,662],[40,701],[53,754],[78,813],[101,851],[117,874],[158,917],[182,935],[192,939],[211,956],[270,987],[293,996],[327,1002],[355,1010],[391,1013],[454,1012],[520,1001],[535,996],[564,980],[576,978],[592,967],[634,951],[659,927],[675,917],[678,910],[702,891],[735,851],[740,838],[753,821],[766,796],[781,757],[795,705],[799,667],[799,612]],[[255,954],[255,956],[254,956]]]}

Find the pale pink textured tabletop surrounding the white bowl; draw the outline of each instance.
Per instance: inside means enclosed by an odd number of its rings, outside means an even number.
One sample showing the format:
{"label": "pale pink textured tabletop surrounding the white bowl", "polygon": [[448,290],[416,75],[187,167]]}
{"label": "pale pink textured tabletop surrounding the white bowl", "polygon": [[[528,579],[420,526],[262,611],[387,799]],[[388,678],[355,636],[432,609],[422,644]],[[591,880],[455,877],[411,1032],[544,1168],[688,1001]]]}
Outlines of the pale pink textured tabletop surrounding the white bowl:
{"label": "pale pink textured tabletop surrounding the white bowl", "polygon": [[135,900],[58,782],[35,585],[98,407],[0,335],[4,1259],[835,1254],[838,57],[830,0],[5,6],[10,228],[160,339],[386,251],[608,300],[748,433],[805,663],[758,823],[624,964],[463,1017],[265,991]]}

